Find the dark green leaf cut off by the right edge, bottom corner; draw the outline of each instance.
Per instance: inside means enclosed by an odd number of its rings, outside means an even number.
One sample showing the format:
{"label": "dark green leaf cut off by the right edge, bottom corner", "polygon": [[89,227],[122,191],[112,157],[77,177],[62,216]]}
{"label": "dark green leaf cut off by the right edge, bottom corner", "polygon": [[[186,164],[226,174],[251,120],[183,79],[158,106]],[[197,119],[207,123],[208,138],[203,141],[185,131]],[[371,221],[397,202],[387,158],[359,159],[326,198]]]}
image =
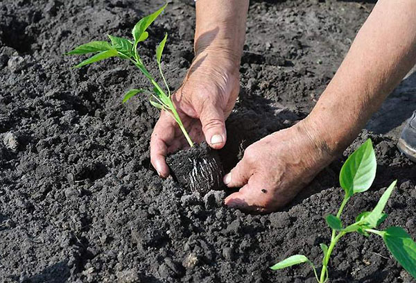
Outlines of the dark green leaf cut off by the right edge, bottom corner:
{"label": "dark green leaf cut off by the right edge, bottom corner", "polygon": [[385,246],[393,257],[413,278],[416,279],[416,243],[409,234],[400,227],[390,227],[384,231]]}

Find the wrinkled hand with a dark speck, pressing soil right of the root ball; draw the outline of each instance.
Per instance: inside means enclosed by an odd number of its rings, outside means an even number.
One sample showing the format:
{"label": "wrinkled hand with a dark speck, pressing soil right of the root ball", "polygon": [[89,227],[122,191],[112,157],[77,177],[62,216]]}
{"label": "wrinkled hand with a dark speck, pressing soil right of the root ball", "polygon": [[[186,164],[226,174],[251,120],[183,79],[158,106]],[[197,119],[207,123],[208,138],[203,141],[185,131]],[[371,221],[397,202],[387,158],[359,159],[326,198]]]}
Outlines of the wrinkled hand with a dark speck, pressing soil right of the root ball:
{"label": "wrinkled hand with a dark speck, pressing soil right of the root ball", "polygon": [[292,200],[332,160],[304,121],[268,135],[245,149],[243,159],[225,175],[227,187],[241,187],[225,205],[272,212]]}

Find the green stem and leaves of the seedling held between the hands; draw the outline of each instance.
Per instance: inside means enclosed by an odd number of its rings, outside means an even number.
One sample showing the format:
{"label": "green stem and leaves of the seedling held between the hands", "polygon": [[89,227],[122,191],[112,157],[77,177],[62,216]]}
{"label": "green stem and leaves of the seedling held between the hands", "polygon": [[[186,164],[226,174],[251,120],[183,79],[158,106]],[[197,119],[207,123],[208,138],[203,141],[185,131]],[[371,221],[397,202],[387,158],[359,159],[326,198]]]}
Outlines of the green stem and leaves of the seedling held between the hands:
{"label": "green stem and leaves of the seedling held between the hands", "polygon": [[127,40],[121,37],[115,37],[112,35],[108,35],[110,37],[110,42],[106,41],[93,41],[83,45],[80,45],[69,51],[66,55],[85,55],[87,53],[96,53],[96,55],[80,62],[80,64],[76,65],[74,68],[80,68],[85,65],[92,64],[94,62],[98,62],[107,58],[112,57],[119,57],[124,60],[130,60],[139,70],[150,80],[150,83],[153,87],[153,92],[150,92],[148,89],[130,89],[123,98],[123,103],[128,101],[130,98],[135,96],[136,94],[149,94],[150,95],[150,104],[155,106],[155,108],[159,108],[160,110],[164,110],[171,114],[173,119],[175,119],[176,123],[184,133],[185,138],[187,139],[190,146],[193,146],[193,142],[191,137],[189,137],[187,130],[182,123],[179,114],[177,114],[175,105],[171,100],[171,89],[169,89],[168,84],[166,83],[166,79],[164,78],[164,74],[162,72],[161,60],[162,60],[162,53],[164,46],[166,44],[166,40],[168,38],[168,34],[164,36],[162,42],[157,45],[156,48],[156,60],[157,66],[159,67],[159,73],[162,77],[164,85],[166,87],[166,92],[159,86],[156,82],[155,78],[150,74],[150,72],[146,69],[143,60],[141,60],[138,47],[140,42],[144,42],[149,36],[148,32],[146,31],[147,28],[152,24],[155,19],[162,13],[164,8],[166,8],[167,4],[165,4],[162,8],[157,10],[151,15],[144,17],[141,19],[132,30],[133,40]]}

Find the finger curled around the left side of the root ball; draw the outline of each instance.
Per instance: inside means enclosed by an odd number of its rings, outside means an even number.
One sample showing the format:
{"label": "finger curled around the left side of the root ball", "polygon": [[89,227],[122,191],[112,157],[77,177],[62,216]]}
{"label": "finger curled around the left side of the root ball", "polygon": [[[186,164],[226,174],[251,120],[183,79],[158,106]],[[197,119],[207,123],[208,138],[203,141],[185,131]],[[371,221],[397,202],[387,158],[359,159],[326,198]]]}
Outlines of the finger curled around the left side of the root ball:
{"label": "finger curled around the left side of the root ball", "polygon": [[168,153],[167,141],[170,141],[174,137],[174,125],[166,117],[166,114],[162,112],[150,139],[150,163],[162,178],[167,178],[169,175],[169,168],[166,164],[166,155]]}

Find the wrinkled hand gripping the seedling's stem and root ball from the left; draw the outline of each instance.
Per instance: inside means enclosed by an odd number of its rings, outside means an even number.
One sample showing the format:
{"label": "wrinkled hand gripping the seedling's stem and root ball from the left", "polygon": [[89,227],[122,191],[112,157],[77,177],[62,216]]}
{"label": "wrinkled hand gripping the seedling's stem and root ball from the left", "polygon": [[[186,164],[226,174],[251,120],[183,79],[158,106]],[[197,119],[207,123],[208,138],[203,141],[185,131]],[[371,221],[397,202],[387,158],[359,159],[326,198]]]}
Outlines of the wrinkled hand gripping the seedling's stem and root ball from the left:
{"label": "wrinkled hand gripping the seedling's stem and root ball from the left", "polygon": [[[238,94],[239,60],[225,51],[209,50],[193,60],[172,100],[193,142],[205,139],[212,148],[219,149],[227,140],[225,119]],[[169,175],[166,155],[187,146],[175,120],[162,111],[150,140],[150,161],[161,177]]]}

